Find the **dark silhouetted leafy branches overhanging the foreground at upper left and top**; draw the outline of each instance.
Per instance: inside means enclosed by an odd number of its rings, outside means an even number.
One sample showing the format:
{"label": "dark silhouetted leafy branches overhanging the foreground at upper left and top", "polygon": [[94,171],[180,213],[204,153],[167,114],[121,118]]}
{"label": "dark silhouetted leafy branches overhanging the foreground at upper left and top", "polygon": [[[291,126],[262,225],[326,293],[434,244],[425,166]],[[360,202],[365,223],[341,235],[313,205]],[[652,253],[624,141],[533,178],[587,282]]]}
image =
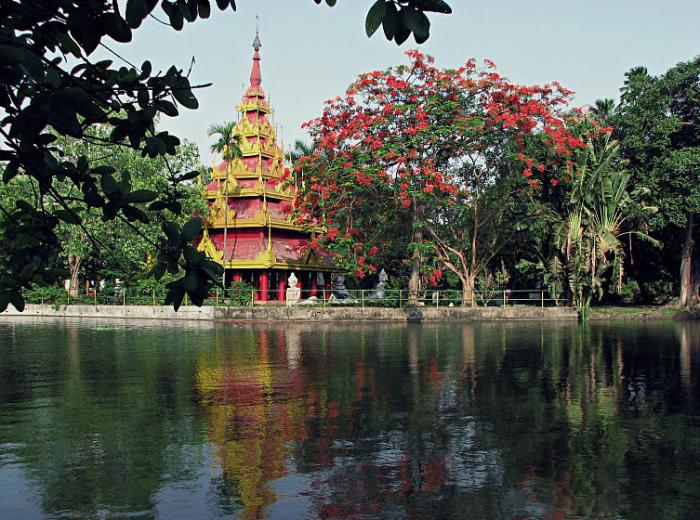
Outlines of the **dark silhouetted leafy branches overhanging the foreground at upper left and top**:
{"label": "dark silhouetted leafy branches overhanging the foreground at upper left and top", "polygon": [[[336,2],[326,3],[332,6]],[[375,3],[371,20],[374,23],[381,18],[383,22],[391,16],[387,12],[397,12],[398,16],[385,25],[385,32],[387,28],[394,29],[396,36],[391,34],[391,38],[397,43],[411,32],[417,39],[427,38],[426,11],[449,12],[442,0],[390,3],[390,8],[383,2]],[[133,224],[144,215],[135,211],[129,200],[136,197],[130,195],[130,183],[123,182],[117,189],[109,167],[91,164],[85,155],[77,160],[61,157],[55,146],[57,134],[101,144],[106,149],[132,148],[151,158],[176,155],[179,139],[157,131],[155,122],[160,114],[177,116],[182,107],[196,109],[193,88],[205,85],[193,87],[189,72],[175,66],[154,72],[150,61],[138,67],[124,60],[123,64],[115,64],[91,57],[98,46],[111,50],[110,41],[130,42],[133,30],[159,5],[175,30],[182,29],[185,21],[208,18],[212,9],[210,0],[127,0],[125,7],[113,0],[0,4],[3,182],[17,176],[31,178],[40,196],[50,195],[55,203],[39,208],[29,203],[0,207],[3,221],[12,226],[4,233],[11,244],[8,261],[0,267],[0,310],[10,302],[23,308],[23,289],[35,283],[54,282],[59,277],[47,262],[50,255],[45,249],[60,248],[55,236],[59,221],[79,225],[75,203],[101,211],[105,220]],[[221,10],[236,9],[234,0],[216,0],[216,5]],[[90,134],[96,124],[108,130],[108,137]],[[131,178],[138,176],[138,172],[130,174]],[[194,171],[185,172],[170,181],[177,187],[195,175]],[[71,198],[58,189],[59,182],[72,184]],[[167,208],[179,213],[178,198],[177,190],[171,191],[153,200],[151,209]],[[193,253],[191,241],[199,228],[201,222],[192,222],[187,229],[174,220],[163,224],[155,274],[161,276],[166,270],[182,274],[170,285],[168,300],[175,307],[185,293],[192,302],[201,304],[208,293],[207,286],[219,281],[219,266]]]}

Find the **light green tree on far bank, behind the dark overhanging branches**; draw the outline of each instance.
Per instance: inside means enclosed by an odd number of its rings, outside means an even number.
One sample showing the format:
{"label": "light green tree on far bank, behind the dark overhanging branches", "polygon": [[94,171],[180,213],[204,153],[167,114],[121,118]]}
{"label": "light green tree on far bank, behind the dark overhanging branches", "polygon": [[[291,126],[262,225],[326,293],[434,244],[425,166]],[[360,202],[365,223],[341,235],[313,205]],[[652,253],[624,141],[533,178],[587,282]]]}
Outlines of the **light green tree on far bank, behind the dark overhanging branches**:
{"label": "light green tree on far bank, behind the dark overhanging branches", "polygon": [[[96,138],[106,137],[105,129],[95,127],[91,135]],[[88,274],[93,280],[114,277],[130,280],[144,276],[147,256],[155,254],[158,247],[161,223],[169,219],[184,223],[189,218],[188,215],[204,210],[201,190],[191,181],[182,183],[178,188],[183,196],[179,199],[183,209],[179,215],[169,209],[149,211],[143,204],[143,201],[171,189],[168,180],[171,170],[168,168],[181,172],[198,167],[198,153],[194,143],[179,146],[177,155],[168,162],[162,157],[142,157],[138,152],[125,147],[106,152],[103,146],[71,137],[59,137],[55,146],[64,158],[85,156],[95,167],[113,169],[115,182],[121,187],[128,184],[131,188],[129,197],[132,207],[127,211],[134,212],[138,217],[134,222],[105,220],[102,212],[74,200],[73,209],[79,225],[60,221],[55,228],[56,237],[61,244],[60,251],[55,252],[55,264],[66,269],[70,279],[70,292],[74,297],[78,295],[79,279]],[[130,171],[139,172],[139,175],[132,178]],[[55,187],[63,197],[76,198],[71,183],[58,181]],[[13,207],[18,200],[30,201],[37,208],[55,204],[52,195],[41,194],[37,183],[26,177],[16,177],[0,189],[0,205],[3,207]],[[130,239],[123,240],[125,236],[130,236]]]}

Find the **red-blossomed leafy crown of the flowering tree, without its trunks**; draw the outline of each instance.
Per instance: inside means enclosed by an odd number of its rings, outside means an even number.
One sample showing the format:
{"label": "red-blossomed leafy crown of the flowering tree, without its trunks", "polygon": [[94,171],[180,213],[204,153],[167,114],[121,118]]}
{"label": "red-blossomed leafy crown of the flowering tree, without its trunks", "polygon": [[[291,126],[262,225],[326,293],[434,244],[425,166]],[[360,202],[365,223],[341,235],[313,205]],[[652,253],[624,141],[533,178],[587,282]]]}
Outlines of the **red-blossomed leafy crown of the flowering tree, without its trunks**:
{"label": "red-blossomed leafy crown of the flowering tree, without its trunks", "polygon": [[[343,247],[350,243],[362,255],[360,278],[369,269],[365,257],[378,252],[365,245],[370,205],[386,203],[411,215],[469,204],[470,175],[501,154],[506,140],[522,150],[517,157],[530,186],[556,186],[572,176],[566,165],[587,139],[612,131],[591,125],[581,131],[583,115],[564,111],[572,92],[557,82],[522,86],[498,74],[490,60],[484,68],[469,60],[442,70],[430,56],[406,54],[408,66],[362,74],[344,98],[328,100],[321,116],[304,125],[316,150],[299,162],[308,188],[298,207],[330,228],[326,243],[340,247],[338,230],[348,229]],[[547,160],[526,156],[533,139],[550,146]],[[472,167],[455,170],[460,163]],[[431,279],[440,276],[434,272]]]}

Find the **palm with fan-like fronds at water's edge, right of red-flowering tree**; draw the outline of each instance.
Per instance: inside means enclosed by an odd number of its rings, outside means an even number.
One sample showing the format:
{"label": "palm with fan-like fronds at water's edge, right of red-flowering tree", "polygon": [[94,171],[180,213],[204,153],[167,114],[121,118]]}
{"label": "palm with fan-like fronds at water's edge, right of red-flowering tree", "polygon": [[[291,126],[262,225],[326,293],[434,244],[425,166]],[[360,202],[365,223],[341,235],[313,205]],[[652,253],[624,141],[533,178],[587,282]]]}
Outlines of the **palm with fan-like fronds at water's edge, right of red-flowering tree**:
{"label": "palm with fan-like fronds at water's edge, right of red-flowering tree", "polygon": [[640,204],[644,189],[628,191],[631,175],[617,168],[619,145],[608,136],[599,148],[589,143],[579,176],[571,187],[569,215],[560,224],[556,244],[563,256],[572,302],[585,318],[593,297],[603,296],[606,277],[617,291],[623,279],[622,237],[658,241],[635,229],[633,218],[656,208]]}

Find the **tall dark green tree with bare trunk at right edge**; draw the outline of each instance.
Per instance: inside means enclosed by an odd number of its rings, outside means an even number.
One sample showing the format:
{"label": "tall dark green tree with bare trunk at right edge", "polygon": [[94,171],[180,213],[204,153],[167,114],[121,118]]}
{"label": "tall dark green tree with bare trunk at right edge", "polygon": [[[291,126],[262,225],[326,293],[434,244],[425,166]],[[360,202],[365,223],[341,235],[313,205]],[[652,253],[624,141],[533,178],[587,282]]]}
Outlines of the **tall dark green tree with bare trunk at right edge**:
{"label": "tall dark green tree with bare trunk at right edge", "polygon": [[680,258],[678,304],[693,306],[700,300],[700,58],[661,76],[643,67],[628,72],[614,126],[632,182],[648,187],[659,208],[652,230]]}

